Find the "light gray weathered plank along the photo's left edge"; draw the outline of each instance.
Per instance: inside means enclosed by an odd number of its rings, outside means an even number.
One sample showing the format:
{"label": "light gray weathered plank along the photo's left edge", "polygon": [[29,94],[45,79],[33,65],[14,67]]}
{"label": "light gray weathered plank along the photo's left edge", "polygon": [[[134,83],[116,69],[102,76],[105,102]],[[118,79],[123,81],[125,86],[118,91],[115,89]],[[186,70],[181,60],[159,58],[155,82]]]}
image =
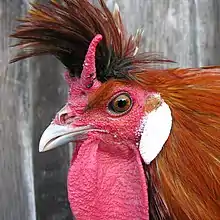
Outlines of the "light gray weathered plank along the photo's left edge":
{"label": "light gray weathered plank along the photo's left edge", "polygon": [[26,4],[0,1],[0,219],[35,219],[29,61],[8,65],[8,35]]}

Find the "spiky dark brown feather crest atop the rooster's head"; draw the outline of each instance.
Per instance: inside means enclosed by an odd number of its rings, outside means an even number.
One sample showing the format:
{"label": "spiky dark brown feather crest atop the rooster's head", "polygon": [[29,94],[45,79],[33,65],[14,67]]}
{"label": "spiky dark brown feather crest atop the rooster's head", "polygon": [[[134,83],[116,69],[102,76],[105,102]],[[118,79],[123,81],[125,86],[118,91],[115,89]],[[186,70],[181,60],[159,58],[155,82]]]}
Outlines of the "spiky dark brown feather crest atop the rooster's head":
{"label": "spiky dark brown feather crest atop the rooster's head", "polygon": [[89,44],[97,34],[103,36],[96,51],[97,78],[101,82],[126,78],[128,71],[138,71],[149,63],[169,62],[158,54],[137,53],[142,31],[128,37],[118,6],[111,13],[103,0],[99,3],[100,8],[87,0],[32,4],[27,17],[20,20],[20,26],[11,35],[20,39],[14,45],[20,53],[11,62],[52,54],[71,76],[79,77]]}

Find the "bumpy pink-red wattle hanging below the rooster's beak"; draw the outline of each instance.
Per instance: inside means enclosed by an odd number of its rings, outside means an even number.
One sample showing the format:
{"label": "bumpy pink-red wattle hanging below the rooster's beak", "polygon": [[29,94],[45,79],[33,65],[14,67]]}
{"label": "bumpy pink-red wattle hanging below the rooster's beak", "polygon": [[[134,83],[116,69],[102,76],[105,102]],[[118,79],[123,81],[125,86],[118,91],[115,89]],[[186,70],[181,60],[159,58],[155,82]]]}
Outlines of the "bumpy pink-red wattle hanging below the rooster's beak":
{"label": "bumpy pink-red wattle hanging below the rooster's beak", "polygon": [[[127,150],[119,153],[119,148]],[[68,193],[79,220],[149,219],[147,185],[135,146],[120,144],[117,149],[88,139],[74,155]]]}

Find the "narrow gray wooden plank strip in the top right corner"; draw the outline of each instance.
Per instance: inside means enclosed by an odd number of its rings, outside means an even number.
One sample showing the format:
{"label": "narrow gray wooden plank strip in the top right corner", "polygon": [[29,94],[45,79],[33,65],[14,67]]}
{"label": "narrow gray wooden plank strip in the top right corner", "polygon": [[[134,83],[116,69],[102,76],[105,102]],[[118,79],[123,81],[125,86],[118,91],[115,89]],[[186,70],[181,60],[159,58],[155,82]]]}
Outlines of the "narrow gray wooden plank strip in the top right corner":
{"label": "narrow gray wooden plank strip in the top right corner", "polygon": [[196,8],[199,65],[220,65],[220,1],[200,0]]}

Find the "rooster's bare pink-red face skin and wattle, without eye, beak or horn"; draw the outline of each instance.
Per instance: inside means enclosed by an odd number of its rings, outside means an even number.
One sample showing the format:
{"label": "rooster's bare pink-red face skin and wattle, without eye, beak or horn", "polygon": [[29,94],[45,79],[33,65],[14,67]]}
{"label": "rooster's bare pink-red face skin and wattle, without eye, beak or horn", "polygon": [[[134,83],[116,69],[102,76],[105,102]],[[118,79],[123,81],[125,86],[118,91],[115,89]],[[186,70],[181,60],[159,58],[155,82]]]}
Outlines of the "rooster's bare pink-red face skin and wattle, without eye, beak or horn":
{"label": "rooster's bare pink-red face skin and wattle, without eye, beak or horn", "polygon": [[[144,170],[138,151],[137,131],[144,116],[144,104],[150,93],[138,86],[112,88],[111,97],[128,93],[132,108],[123,115],[109,111],[104,104],[85,110],[88,95],[75,80],[68,99],[71,126],[90,125],[85,140],[76,143],[68,175],[68,195],[77,219],[149,219]],[[81,94],[81,95],[80,95]],[[75,117],[75,119],[74,119]]]}

